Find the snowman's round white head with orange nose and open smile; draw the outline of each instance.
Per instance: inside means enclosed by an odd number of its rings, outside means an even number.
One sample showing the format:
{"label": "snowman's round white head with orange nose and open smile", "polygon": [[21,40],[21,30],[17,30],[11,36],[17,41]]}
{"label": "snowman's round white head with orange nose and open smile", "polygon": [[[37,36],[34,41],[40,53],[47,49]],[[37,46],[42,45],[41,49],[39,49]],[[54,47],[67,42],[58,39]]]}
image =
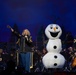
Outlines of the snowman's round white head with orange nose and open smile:
{"label": "snowman's round white head with orange nose and open smile", "polygon": [[45,29],[45,34],[49,39],[57,39],[61,36],[62,30],[57,24],[49,24]]}

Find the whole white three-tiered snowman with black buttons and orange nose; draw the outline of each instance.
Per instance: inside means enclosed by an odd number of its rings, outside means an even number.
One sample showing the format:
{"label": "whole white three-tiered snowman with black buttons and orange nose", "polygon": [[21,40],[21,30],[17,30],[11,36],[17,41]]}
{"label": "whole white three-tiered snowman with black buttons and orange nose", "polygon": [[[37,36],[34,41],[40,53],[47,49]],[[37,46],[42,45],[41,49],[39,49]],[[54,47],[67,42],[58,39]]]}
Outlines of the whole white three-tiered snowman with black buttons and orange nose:
{"label": "whole white three-tiered snowman with black buttons and orange nose", "polygon": [[57,24],[49,24],[45,29],[45,34],[48,37],[48,43],[46,45],[47,54],[42,58],[42,62],[45,68],[62,68],[65,64],[65,58],[60,54],[62,50],[62,44],[59,37],[62,34],[62,30]]}

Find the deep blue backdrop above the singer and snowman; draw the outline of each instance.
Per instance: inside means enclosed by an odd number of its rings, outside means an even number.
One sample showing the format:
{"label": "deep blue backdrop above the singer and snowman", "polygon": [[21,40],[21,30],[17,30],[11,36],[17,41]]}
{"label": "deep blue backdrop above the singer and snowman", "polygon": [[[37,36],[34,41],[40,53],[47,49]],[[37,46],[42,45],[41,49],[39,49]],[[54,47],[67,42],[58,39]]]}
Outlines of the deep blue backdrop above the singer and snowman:
{"label": "deep blue backdrop above the singer and snowman", "polygon": [[[76,34],[76,0],[0,0],[0,42],[8,42],[7,25],[17,24],[20,33],[28,28],[33,40],[41,26],[50,23]],[[64,32],[63,32],[64,33]]]}

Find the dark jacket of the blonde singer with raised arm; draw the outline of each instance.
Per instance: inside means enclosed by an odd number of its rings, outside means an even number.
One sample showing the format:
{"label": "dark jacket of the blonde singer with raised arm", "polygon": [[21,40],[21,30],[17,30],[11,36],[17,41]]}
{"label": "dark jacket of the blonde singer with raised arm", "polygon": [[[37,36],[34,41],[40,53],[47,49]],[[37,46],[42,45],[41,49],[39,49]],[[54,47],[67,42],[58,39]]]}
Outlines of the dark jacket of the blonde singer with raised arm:
{"label": "dark jacket of the blonde singer with raised arm", "polygon": [[27,40],[25,36],[20,35],[16,31],[13,31],[12,33],[18,37],[18,41],[19,41],[18,45],[20,46],[21,52],[30,52],[32,50],[33,42],[30,41],[30,39],[32,40],[31,36],[27,35],[27,38],[28,38]]}

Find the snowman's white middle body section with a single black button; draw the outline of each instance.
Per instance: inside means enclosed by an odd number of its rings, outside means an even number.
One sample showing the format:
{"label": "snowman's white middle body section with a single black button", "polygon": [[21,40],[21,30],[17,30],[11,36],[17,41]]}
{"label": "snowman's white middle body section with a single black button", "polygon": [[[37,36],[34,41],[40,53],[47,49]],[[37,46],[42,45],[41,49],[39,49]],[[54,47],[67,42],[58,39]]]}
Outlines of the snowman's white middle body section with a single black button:
{"label": "snowman's white middle body section with a single black button", "polygon": [[46,49],[48,52],[60,53],[62,50],[62,44],[60,39],[51,40],[49,39]]}

